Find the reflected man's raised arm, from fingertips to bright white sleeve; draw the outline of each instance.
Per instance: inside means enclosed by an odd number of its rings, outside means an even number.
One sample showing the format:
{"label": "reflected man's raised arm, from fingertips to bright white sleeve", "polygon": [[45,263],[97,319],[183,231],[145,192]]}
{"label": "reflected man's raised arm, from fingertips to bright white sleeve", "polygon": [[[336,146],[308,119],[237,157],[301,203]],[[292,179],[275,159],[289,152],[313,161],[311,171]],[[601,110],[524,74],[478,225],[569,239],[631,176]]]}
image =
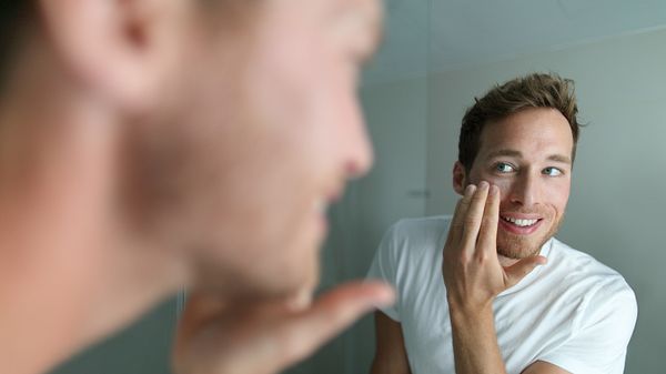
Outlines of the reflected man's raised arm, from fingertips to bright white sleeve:
{"label": "reflected man's raised arm, from fingertips to bright white sleeve", "polygon": [[[458,202],[444,247],[442,271],[447,291],[456,373],[505,373],[494,327],[493,301],[516,284],[541,256],[503,267],[496,254],[498,191],[471,186]],[[522,374],[622,373],[637,309],[622,282],[594,293],[594,306],[581,321],[576,338],[542,355]],[[568,371],[564,370],[566,367]]]}

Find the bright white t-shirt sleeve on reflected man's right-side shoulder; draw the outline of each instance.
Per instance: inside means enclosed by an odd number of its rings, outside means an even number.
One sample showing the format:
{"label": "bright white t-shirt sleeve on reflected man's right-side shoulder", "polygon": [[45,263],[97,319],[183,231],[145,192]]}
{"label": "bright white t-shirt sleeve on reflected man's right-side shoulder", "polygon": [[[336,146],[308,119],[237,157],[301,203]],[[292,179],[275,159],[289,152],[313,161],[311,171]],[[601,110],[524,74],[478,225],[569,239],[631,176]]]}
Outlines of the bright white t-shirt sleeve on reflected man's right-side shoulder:
{"label": "bright white t-shirt sleeve on reflected man's right-side shoulder", "polygon": [[638,313],[634,292],[620,279],[601,286],[584,309],[572,336],[537,360],[573,374],[622,374]]}

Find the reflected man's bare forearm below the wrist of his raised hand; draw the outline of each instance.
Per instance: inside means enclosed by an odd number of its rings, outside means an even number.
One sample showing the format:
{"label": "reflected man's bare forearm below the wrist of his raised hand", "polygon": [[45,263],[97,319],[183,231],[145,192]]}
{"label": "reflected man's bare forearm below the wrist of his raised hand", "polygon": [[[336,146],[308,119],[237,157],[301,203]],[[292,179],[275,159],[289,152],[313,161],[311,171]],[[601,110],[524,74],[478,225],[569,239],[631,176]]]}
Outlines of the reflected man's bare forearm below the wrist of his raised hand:
{"label": "reflected man's bare forearm below the wrist of his raised hand", "polygon": [[457,374],[505,374],[497,346],[492,305],[470,312],[450,306],[453,353]]}

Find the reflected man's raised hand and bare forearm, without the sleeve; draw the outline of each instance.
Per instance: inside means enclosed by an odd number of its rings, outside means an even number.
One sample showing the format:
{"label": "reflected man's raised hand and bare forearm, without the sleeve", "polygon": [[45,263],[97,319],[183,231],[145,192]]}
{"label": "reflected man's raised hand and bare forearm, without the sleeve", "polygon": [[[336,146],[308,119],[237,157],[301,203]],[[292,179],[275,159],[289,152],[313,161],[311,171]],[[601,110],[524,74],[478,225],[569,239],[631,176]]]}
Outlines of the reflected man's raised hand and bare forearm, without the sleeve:
{"label": "reflected man's raised hand and bare forearm, without the sleeve", "polygon": [[[444,246],[442,272],[457,374],[506,373],[497,345],[493,301],[545,261],[534,256],[503,267],[495,242],[498,219],[498,189],[485,182],[478,188],[467,186]],[[542,368],[531,366],[527,373],[542,373]]]}

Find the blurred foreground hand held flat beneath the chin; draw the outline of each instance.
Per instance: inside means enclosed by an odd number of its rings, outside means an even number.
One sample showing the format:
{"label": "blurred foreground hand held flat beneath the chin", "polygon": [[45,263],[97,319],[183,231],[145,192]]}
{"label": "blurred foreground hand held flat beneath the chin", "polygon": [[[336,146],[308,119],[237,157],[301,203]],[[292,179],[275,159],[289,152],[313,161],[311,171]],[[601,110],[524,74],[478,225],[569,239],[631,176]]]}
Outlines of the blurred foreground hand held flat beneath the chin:
{"label": "blurred foreground hand held flat beneath the chin", "polygon": [[314,303],[229,302],[194,294],[179,324],[176,374],[270,374],[301,361],[376,306],[393,302],[385,284],[355,283]]}

